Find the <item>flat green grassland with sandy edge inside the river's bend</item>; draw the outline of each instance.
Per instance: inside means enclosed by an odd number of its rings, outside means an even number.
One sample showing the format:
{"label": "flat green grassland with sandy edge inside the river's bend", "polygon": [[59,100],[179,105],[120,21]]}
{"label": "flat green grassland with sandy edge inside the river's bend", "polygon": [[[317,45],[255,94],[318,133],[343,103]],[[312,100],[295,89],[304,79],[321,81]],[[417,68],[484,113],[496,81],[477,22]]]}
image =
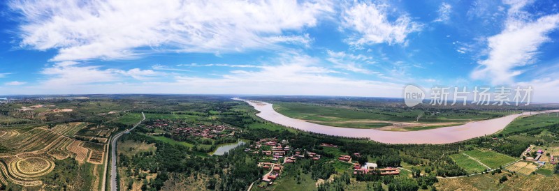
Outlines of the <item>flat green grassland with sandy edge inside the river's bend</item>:
{"label": "flat green grassland with sandy edge inside the river's bend", "polygon": [[[483,111],[448,111],[426,114],[421,109],[380,110],[340,105],[319,105],[307,102],[273,102],[274,109],[280,114],[311,123],[343,128],[382,128],[393,123],[405,122],[402,128],[389,128],[394,131],[414,131],[443,128],[462,123],[491,119],[502,114]],[[418,120],[419,117],[419,120]],[[419,122],[419,123],[417,123]],[[445,124],[441,124],[441,123]],[[438,123],[438,124],[437,124]],[[385,129],[382,129],[385,130]]]}

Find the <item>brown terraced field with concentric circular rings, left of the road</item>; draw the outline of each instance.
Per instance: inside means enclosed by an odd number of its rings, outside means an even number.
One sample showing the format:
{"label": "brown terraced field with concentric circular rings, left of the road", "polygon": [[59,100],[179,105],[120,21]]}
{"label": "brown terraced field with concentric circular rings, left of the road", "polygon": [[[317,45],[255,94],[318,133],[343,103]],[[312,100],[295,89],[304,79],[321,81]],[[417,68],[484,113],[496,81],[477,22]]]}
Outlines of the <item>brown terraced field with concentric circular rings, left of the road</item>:
{"label": "brown terraced field with concentric circular rings, left of the road", "polygon": [[[47,127],[21,127],[0,131],[0,184],[41,186],[41,178],[55,169],[55,160],[74,158],[79,163],[103,164],[106,144],[76,140],[87,123]],[[110,136],[114,129],[100,130]],[[95,137],[107,139],[106,137]]]}

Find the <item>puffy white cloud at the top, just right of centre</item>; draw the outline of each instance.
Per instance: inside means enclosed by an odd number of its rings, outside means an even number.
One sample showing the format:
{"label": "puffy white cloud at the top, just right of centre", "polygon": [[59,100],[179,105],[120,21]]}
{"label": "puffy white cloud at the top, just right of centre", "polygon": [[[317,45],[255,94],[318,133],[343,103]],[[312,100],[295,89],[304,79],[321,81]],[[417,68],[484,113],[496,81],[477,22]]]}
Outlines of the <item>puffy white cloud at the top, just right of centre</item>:
{"label": "puffy white cloud at the top, just right of centre", "polygon": [[421,30],[406,13],[389,21],[389,6],[375,3],[353,3],[342,11],[342,26],[356,35],[347,39],[349,45],[360,47],[377,43],[405,44],[409,33]]}

